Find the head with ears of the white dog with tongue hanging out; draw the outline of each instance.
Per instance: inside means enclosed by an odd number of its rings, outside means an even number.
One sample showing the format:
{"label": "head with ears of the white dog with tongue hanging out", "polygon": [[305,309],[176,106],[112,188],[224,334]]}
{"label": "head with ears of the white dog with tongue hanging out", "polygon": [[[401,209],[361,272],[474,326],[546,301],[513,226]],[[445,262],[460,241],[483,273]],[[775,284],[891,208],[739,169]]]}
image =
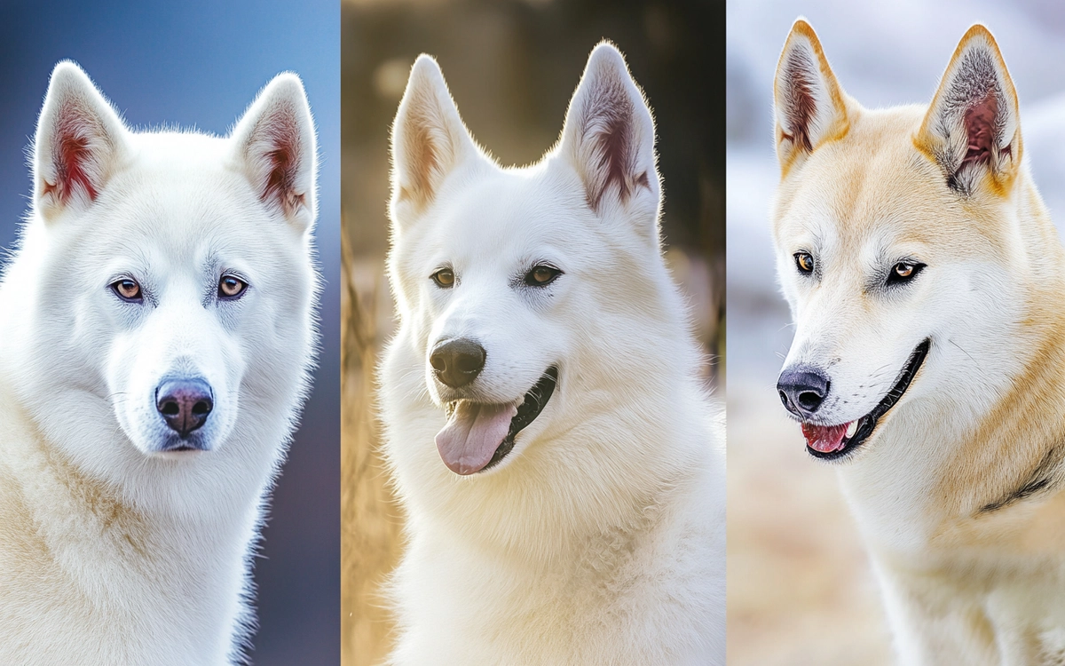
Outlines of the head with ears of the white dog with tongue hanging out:
{"label": "head with ears of the white dog with tongue hanging out", "polygon": [[[560,423],[577,381],[596,372],[630,380],[620,361],[646,334],[621,322],[657,311],[646,304],[658,286],[672,288],[651,112],[621,53],[600,45],[556,147],[532,166],[504,168],[473,141],[423,55],[392,159],[389,270],[402,326],[391,356],[403,357],[408,393],[446,416],[436,443],[447,468],[502,469]],[[576,371],[603,348],[617,352],[616,367]]]}

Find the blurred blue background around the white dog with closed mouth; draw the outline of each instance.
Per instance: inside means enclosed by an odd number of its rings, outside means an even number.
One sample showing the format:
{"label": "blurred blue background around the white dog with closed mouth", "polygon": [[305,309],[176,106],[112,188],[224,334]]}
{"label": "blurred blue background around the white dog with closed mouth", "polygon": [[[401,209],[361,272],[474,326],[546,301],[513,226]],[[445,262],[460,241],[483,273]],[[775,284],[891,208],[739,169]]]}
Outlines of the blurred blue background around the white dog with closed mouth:
{"label": "blurred blue background around the white dog with closed mouth", "polygon": [[0,246],[26,212],[26,150],[48,76],[77,61],[134,127],[226,134],[283,70],[318,129],[317,246],[326,276],[314,392],[256,563],[255,664],[340,662],[340,3],[337,0],[0,4]]}

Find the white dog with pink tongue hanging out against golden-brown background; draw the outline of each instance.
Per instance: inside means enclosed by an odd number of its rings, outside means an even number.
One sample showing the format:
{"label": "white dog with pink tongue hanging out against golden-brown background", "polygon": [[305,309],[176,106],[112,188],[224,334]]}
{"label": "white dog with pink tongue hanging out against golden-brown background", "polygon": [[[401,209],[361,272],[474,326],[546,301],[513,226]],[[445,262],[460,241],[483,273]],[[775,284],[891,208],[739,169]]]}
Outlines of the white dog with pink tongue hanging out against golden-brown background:
{"label": "white dog with pink tongue hanging out against golden-brown background", "polygon": [[724,663],[723,432],[661,256],[654,141],[608,44],[524,168],[414,63],[381,375],[409,515],[391,663]]}

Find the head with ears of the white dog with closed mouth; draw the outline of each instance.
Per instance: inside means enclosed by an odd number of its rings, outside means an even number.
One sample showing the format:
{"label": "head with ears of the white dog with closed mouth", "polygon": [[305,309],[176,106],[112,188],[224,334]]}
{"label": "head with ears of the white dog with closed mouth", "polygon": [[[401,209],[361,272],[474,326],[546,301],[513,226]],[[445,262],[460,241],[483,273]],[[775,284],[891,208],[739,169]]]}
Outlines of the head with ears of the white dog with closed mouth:
{"label": "head with ears of the white dog with closed mouth", "polygon": [[[289,432],[314,339],[315,172],[294,75],[220,139],[132,131],[77,65],[55,67],[5,281],[29,310],[19,384],[67,453],[143,468]],[[283,436],[263,439],[273,460]]]}

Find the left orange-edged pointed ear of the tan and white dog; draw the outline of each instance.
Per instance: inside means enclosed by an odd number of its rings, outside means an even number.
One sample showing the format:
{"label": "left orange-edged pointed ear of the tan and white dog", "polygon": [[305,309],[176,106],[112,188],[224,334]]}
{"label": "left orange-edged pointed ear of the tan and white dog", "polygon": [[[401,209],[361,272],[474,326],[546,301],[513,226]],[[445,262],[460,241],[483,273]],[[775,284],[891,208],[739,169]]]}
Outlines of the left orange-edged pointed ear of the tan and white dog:
{"label": "left orange-edged pointed ear of the tan and white dog", "polygon": [[776,159],[784,173],[830,139],[847,134],[847,102],[817,33],[804,19],[791,26],[773,84]]}

